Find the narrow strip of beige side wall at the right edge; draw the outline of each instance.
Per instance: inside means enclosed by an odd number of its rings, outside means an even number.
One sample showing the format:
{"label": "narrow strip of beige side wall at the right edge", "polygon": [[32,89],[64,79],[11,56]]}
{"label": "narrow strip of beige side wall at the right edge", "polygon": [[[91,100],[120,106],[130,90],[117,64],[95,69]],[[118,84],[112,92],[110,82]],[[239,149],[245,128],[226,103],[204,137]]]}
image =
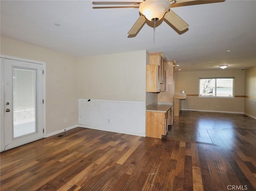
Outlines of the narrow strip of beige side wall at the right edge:
{"label": "narrow strip of beige side wall at the right edge", "polygon": [[244,113],[256,118],[256,66],[245,70]]}

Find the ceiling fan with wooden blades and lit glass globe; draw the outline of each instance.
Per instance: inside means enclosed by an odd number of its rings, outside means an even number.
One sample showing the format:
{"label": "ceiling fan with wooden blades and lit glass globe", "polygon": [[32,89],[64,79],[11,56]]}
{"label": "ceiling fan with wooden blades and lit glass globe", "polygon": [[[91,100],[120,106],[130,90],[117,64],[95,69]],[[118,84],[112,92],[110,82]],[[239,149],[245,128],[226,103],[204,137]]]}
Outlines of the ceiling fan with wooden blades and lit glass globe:
{"label": "ceiling fan with wooden blades and lit glass globe", "polygon": [[[94,1],[94,5],[118,5],[118,6],[102,6],[102,7],[93,7],[93,8],[139,8],[141,16],[132,26],[129,35],[135,35],[139,32],[140,28],[146,23],[146,19],[152,22],[156,22],[162,18],[165,18],[167,22],[172,24],[179,31],[183,31],[189,27],[189,25],[182,20],[177,14],[175,14],[170,8],[173,4],[175,6],[180,4],[184,6],[186,2],[195,2],[200,0],[142,0],[142,2],[107,2],[107,1]],[[221,2],[224,0],[205,0],[201,1],[199,4],[212,3],[212,2]],[[126,5],[126,6],[120,6]],[[130,6],[127,6],[130,5]]]}

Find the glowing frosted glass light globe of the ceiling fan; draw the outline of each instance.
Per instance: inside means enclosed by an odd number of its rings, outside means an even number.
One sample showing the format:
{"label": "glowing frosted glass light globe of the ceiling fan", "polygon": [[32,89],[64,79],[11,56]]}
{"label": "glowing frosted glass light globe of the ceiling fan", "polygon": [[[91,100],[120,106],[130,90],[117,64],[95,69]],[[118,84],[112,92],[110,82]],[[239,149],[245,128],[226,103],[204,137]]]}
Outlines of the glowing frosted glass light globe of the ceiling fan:
{"label": "glowing frosted glass light globe of the ceiling fan", "polygon": [[160,20],[169,9],[168,0],[146,0],[139,8],[140,13],[150,21]]}

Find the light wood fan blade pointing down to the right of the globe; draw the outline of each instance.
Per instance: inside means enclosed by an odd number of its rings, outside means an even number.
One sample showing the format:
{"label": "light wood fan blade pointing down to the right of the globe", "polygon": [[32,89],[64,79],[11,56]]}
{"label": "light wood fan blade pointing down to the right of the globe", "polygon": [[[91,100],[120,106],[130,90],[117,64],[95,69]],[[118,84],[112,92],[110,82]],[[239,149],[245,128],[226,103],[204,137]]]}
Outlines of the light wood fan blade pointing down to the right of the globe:
{"label": "light wood fan blade pointing down to the right of the globe", "polygon": [[182,18],[180,18],[176,13],[174,13],[172,10],[167,12],[164,15],[164,18],[170,24],[172,24],[175,28],[177,28],[179,31],[183,31],[189,27],[189,25],[184,20],[182,20]]}

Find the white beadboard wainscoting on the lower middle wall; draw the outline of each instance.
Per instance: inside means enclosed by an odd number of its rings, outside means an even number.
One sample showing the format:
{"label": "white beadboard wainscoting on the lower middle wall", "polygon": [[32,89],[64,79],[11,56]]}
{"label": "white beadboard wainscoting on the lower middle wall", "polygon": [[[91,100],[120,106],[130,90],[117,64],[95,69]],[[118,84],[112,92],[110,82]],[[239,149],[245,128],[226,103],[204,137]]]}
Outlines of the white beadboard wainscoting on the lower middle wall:
{"label": "white beadboard wainscoting on the lower middle wall", "polygon": [[146,102],[78,99],[78,126],[146,136]]}

